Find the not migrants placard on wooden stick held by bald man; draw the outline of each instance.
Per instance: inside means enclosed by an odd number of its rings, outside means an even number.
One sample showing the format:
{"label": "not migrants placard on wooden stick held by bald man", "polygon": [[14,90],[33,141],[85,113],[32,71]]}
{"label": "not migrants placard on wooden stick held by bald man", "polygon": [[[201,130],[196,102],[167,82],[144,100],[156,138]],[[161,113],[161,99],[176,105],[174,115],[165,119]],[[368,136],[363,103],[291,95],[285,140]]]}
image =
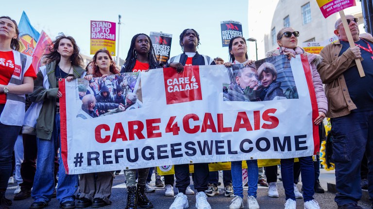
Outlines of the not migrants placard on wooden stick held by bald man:
{"label": "not migrants placard on wooden stick held by bald man", "polygon": [[[346,31],[348,43],[350,44],[350,47],[354,47],[355,43],[351,35],[350,28],[348,26],[346,16],[344,15],[343,10],[352,6],[356,6],[355,0],[316,0],[317,4],[320,7],[322,15],[324,17],[328,17],[334,13],[339,12],[340,19],[343,24],[343,28]],[[359,59],[355,60],[357,70],[359,71],[360,77],[364,77],[364,70],[363,66],[361,65],[361,61]]]}

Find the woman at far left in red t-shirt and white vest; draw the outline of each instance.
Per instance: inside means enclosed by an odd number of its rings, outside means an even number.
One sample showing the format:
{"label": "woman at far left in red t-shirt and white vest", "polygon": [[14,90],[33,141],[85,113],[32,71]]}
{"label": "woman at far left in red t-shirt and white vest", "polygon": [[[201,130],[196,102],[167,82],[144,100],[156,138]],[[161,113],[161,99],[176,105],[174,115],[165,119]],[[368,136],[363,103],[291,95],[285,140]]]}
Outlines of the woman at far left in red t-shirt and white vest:
{"label": "woman at far left in red t-shirt and white vest", "polygon": [[[0,17],[0,208],[5,199],[12,169],[12,153],[25,112],[25,94],[33,92],[36,77],[31,57],[20,54],[15,20]],[[26,60],[26,61],[24,61]],[[8,105],[7,105],[8,103]]]}

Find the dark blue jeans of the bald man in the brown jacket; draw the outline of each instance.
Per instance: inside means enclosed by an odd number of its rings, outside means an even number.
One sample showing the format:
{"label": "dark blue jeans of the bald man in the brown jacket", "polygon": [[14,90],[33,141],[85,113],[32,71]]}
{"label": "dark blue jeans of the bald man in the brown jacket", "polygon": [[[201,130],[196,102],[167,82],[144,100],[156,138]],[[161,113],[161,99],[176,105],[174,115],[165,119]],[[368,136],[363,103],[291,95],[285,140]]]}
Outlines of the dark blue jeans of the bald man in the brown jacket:
{"label": "dark blue jeans of the bald man in the brown jacket", "polygon": [[333,159],[336,165],[337,205],[360,200],[360,165],[364,151],[368,159],[368,191],[373,200],[373,110],[351,112],[331,119]]}

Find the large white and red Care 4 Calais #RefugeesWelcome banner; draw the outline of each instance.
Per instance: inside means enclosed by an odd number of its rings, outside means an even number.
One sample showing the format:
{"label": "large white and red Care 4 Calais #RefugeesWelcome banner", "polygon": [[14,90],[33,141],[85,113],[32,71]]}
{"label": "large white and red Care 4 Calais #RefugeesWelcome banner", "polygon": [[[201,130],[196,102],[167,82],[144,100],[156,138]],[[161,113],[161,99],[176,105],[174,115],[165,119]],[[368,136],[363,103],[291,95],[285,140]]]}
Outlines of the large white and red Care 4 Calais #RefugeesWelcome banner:
{"label": "large white and red Care 4 Calais #RefugeesWelcome banner", "polygon": [[[260,79],[264,69],[271,80]],[[115,79],[122,91],[105,87]],[[316,97],[303,55],[232,68],[188,66],[181,74],[163,68],[62,81],[60,89],[69,174],[303,157],[319,148]]]}

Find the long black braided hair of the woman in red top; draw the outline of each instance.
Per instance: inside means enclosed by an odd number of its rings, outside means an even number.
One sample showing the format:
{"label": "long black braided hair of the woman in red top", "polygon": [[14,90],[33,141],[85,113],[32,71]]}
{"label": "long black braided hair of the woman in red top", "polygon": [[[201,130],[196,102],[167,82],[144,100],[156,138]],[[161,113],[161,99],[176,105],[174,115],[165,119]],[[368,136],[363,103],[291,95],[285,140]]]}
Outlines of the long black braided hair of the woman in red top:
{"label": "long black braided hair of the woman in red top", "polygon": [[155,57],[155,52],[154,52],[152,40],[150,40],[150,37],[147,34],[138,33],[134,37],[132,37],[130,49],[128,50],[128,53],[127,53],[126,65],[124,67],[124,72],[126,72],[126,73],[127,72],[132,72],[132,69],[134,68],[134,66],[136,64],[137,53],[136,53],[136,50],[135,50],[135,42],[136,42],[136,38],[139,35],[144,35],[149,39],[149,45],[150,45],[149,52],[148,52],[149,69],[155,69],[155,68],[160,67],[158,59]]}

